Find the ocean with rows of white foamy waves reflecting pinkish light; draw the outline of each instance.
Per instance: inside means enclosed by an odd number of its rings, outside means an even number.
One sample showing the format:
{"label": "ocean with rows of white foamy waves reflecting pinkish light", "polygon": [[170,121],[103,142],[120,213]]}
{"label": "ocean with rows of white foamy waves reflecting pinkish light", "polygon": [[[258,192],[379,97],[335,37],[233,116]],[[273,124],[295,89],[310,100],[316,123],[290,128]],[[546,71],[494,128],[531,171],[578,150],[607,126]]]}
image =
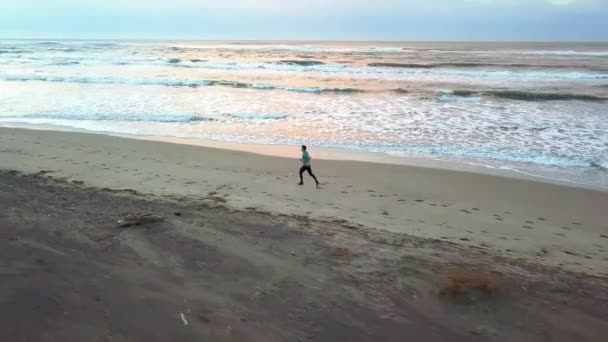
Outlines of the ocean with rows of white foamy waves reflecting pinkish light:
{"label": "ocean with rows of white foamy waves reflecting pinkish light", "polygon": [[608,43],[0,40],[0,124],[388,153],[608,187]]}

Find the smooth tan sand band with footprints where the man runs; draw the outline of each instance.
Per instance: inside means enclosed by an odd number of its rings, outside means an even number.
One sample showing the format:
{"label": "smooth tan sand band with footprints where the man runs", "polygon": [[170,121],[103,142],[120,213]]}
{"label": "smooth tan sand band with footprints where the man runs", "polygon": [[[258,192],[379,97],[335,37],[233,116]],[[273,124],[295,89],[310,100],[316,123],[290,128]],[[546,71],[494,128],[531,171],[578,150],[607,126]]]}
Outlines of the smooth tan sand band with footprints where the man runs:
{"label": "smooth tan sand band with footprints where the man runs", "polygon": [[[229,207],[346,220],[608,275],[608,192],[404,165],[313,160],[96,134],[0,128],[0,169],[99,188],[221,197]],[[314,158],[315,151],[311,150]],[[222,201],[223,201],[222,200]]]}

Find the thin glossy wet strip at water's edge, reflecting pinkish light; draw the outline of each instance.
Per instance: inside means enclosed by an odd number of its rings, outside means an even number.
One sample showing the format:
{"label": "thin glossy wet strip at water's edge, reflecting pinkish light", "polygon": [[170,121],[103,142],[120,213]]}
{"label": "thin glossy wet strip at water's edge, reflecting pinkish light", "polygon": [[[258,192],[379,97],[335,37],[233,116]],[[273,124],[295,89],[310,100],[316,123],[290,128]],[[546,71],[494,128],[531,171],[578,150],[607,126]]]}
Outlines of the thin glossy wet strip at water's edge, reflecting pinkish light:
{"label": "thin glossy wet strip at water's edge, reflecting pinkish light", "polygon": [[[208,148],[216,148],[223,150],[247,152],[252,154],[280,157],[287,159],[294,159],[294,156],[298,155],[299,146],[295,145],[280,145],[280,144],[256,144],[256,143],[245,143],[245,142],[230,142],[210,139],[198,139],[198,138],[181,138],[181,137],[169,137],[169,136],[151,136],[144,134],[127,134],[127,133],[114,133],[108,131],[92,131],[86,129],[80,129],[70,126],[60,126],[51,124],[26,124],[26,123],[11,123],[2,122],[0,128],[17,128],[17,129],[30,129],[30,130],[43,130],[43,131],[57,131],[57,132],[75,132],[84,134],[99,134],[112,137],[120,137],[126,139],[144,140],[144,141],[156,141],[166,142],[173,144],[183,144],[191,146],[200,146]],[[390,165],[405,165],[412,167],[422,167],[430,169],[441,169],[456,172],[468,172],[474,174],[491,175],[497,177],[505,177],[512,179],[529,180],[539,183],[555,184],[560,186],[577,187],[595,191],[606,191],[608,192],[608,186],[590,184],[585,182],[579,182],[575,180],[557,178],[551,176],[544,176],[534,174],[527,171],[517,170],[510,167],[498,167],[484,165],[479,161],[454,161],[437,158],[424,157],[413,157],[413,156],[395,156],[386,152],[372,152],[364,150],[344,149],[344,148],[329,148],[329,147],[314,147],[316,160],[329,160],[329,161],[355,161],[355,162],[366,162],[376,164],[390,164]],[[297,159],[297,158],[295,158]],[[608,177],[608,175],[607,175]]]}

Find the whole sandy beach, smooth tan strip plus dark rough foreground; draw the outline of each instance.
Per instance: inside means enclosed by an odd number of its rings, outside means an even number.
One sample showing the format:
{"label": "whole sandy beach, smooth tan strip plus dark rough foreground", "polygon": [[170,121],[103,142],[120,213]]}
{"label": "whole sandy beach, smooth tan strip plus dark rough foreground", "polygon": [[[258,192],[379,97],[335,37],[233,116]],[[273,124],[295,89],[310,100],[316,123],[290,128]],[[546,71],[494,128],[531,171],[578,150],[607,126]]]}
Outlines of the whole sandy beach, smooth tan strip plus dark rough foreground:
{"label": "whole sandy beach, smooth tan strip plus dark rough foreground", "polygon": [[[296,185],[297,156],[0,128],[0,339],[608,332],[608,192],[313,159],[315,189]],[[159,222],[121,223],[133,213]],[[438,284],[463,270],[499,289],[445,298]]]}

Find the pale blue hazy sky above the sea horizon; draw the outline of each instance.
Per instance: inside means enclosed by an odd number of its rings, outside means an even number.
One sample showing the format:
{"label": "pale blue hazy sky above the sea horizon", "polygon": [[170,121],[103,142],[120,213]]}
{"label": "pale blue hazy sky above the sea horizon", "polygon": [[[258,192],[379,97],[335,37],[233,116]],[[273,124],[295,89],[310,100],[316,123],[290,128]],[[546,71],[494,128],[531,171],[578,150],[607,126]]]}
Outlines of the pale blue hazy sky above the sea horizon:
{"label": "pale blue hazy sky above the sea horizon", "polygon": [[608,0],[0,0],[0,37],[608,41]]}

